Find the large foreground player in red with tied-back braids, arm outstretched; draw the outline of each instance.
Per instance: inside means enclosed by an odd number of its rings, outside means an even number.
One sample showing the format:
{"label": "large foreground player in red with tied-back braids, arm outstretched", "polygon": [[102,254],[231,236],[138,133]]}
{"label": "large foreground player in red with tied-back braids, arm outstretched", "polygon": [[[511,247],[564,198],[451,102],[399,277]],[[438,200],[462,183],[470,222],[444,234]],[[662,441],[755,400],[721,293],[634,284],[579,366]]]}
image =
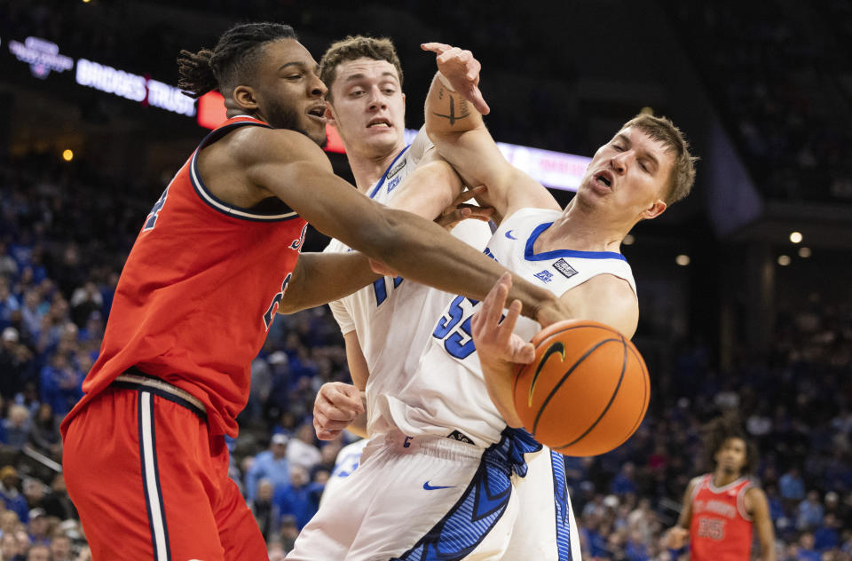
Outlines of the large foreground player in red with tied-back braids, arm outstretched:
{"label": "large foreground player in red with tied-back braids, arm outstretched", "polygon": [[[227,477],[225,435],[248,399],[248,364],[288,287],[307,307],[375,278],[333,275],[359,255],[299,259],[306,220],[414,281],[470,297],[504,271],[335,177],[318,146],[326,87],[292,28],[240,25],[178,62],[181,86],[218,89],[229,118],[146,217],[85,395],[62,424],[68,493],[96,561],[267,558]],[[517,287],[543,323],[561,314],[548,291]]]}

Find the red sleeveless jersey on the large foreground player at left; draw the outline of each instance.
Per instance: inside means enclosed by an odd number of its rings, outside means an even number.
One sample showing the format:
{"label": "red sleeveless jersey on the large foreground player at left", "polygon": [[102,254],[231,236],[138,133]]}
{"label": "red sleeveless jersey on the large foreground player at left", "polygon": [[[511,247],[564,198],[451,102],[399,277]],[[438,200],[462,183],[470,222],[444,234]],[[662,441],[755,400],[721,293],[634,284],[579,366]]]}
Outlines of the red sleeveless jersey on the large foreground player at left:
{"label": "red sleeveless jersey on the large foreground player at left", "polygon": [[249,364],[287,289],[307,228],[279,199],[241,209],[211,194],[198,170],[202,148],[244,126],[213,130],[177,172],[139,232],[115,289],[98,360],[68,421],[129,367],[190,392],[213,434],[237,433]]}

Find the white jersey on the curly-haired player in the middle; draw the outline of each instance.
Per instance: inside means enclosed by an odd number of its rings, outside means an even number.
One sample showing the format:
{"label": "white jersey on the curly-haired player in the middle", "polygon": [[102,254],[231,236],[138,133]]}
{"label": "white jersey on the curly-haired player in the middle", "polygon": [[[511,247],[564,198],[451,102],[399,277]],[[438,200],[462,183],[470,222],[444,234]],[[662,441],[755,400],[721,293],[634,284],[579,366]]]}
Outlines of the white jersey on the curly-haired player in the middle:
{"label": "white jersey on the curly-haired player in the middle", "polygon": [[[414,171],[430,140],[421,130],[412,144],[390,163],[383,177],[367,192],[374,201],[388,204],[406,189],[402,183]],[[491,237],[491,228],[478,220],[464,220],[453,229],[453,235],[482,250]],[[345,252],[351,249],[341,241],[332,240],[326,251]],[[402,277],[383,277],[358,292],[329,304],[345,335],[352,330],[358,334],[361,350],[367,360],[367,432],[387,431],[373,412],[375,401],[384,392],[397,395],[414,373],[423,347],[441,310],[453,295],[406,281]]]}

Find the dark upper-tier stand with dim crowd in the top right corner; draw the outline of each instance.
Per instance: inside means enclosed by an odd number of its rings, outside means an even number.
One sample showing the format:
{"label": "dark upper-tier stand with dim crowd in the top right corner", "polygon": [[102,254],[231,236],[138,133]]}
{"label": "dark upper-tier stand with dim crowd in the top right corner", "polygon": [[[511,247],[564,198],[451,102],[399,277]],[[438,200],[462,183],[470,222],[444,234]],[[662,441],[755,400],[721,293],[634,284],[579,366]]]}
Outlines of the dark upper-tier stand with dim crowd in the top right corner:
{"label": "dark upper-tier stand with dim crowd in the top right corner", "polygon": [[852,4],[662,0],[754,184],[771,198],[852,200]]}

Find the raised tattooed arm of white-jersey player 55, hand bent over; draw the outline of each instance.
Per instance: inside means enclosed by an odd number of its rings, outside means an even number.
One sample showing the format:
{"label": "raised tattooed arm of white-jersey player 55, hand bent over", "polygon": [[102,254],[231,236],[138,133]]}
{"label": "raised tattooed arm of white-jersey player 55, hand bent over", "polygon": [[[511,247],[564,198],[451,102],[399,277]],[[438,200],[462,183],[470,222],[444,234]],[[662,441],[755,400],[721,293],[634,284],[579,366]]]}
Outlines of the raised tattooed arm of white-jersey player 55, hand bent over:
{"label": "raised tattooed arm of white-jersey player 55, hand bent over", "polygon": [[478,89],[479,62],[470,51],[443,43],[424,43],[437,54],[438,74],[426,98],[426,131],[438,152],[468,185],[486,185],[485,201],[508,217],[525,207],[559,209],[553,196],[503,157],[485,128],[487,110]]}

